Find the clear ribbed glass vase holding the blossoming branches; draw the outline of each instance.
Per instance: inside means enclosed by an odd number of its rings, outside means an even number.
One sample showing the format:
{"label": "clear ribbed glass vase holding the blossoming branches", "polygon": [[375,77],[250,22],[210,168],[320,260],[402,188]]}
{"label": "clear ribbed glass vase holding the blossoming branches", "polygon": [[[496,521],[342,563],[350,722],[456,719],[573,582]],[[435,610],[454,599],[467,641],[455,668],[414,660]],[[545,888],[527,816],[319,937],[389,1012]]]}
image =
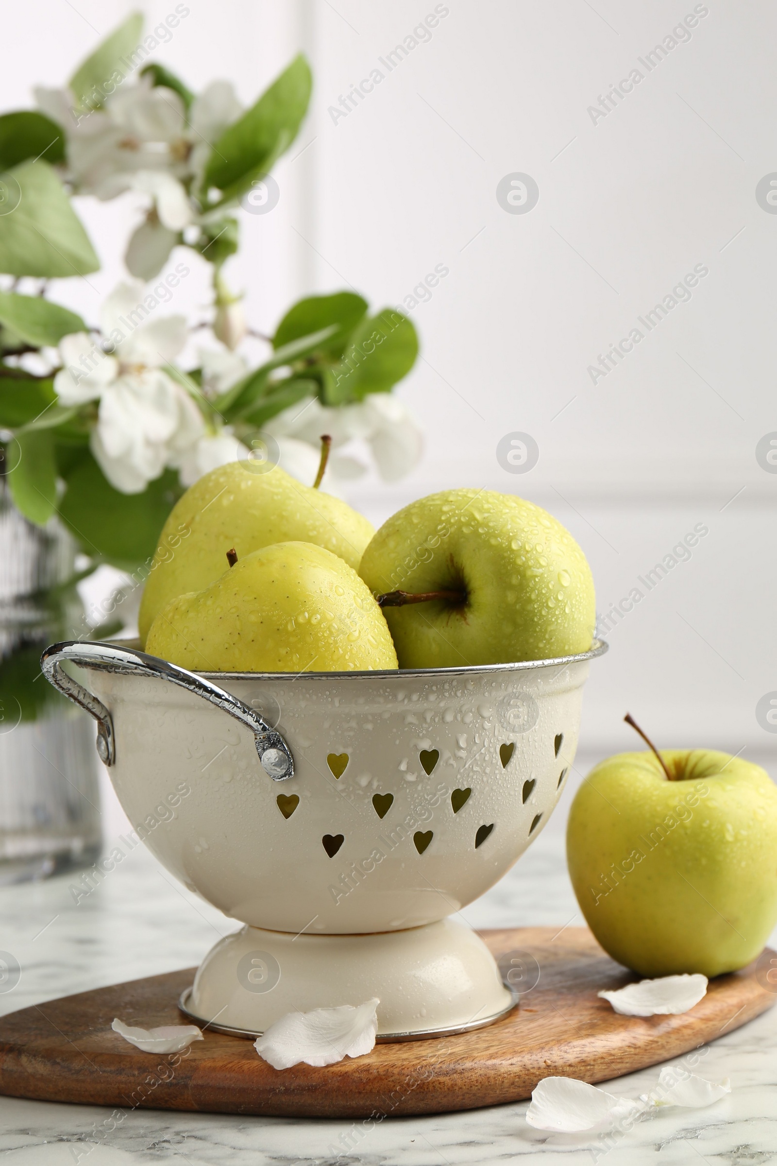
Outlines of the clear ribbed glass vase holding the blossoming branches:
{"label": "clear ribbed glass vase holding the blossoming branches", "polygon": [[76,556],[64,527],[28,522],[0,478],[0,885],[100,852],[94,724],[40,668],[49,644],[89,634]]}

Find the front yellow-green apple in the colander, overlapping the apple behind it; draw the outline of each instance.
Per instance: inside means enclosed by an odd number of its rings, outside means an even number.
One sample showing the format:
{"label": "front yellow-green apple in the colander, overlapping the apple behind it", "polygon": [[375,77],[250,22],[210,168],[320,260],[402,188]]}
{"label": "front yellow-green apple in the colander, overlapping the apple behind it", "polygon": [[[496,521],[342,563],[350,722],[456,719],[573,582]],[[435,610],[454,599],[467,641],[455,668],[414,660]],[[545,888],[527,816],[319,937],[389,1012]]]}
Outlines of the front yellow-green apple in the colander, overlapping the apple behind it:
{"label": "front yellow-green apple in the colander, overlapping the apple behind it", "polygon": [[216,583],[157,614],[146,645],[153,655],[196,672],[396,668],[381,609],[342,559],[310,542],[245,559],[231,548],[227,559]]}

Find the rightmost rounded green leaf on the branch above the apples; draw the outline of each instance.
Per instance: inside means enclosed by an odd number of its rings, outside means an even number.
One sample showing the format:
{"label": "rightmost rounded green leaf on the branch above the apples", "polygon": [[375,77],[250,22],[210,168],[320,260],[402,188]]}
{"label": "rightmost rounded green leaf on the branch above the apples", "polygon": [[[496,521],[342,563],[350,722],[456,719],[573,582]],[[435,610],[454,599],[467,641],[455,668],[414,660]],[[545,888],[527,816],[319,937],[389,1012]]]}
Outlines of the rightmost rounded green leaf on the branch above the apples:
{"label": "rightmost rounded green leaf on the branch above the apples", "polygon": [[418,336],[407,316],[384,308],[362,321],[342,360],[332,370],[332,398],[327,405],[362,401],[368,393],[388,393],[412,368]]}

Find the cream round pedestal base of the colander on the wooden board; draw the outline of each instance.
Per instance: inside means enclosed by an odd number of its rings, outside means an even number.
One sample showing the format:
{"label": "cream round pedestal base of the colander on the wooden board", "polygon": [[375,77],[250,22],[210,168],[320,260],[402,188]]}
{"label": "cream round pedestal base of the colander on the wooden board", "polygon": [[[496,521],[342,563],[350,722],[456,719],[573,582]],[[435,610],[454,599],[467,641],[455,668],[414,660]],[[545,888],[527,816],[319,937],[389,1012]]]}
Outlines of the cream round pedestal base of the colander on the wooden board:
{"label": "cream round pedestal base of the colander on the wooden board", "polygon": [[200,964],[182,1011],[257,1037],[288,1012],[377,997],[379,1040],[423,1040],[493,1024],[515,1006],[482,940],[450,919],[374,935],[291,935],[243,927]]}

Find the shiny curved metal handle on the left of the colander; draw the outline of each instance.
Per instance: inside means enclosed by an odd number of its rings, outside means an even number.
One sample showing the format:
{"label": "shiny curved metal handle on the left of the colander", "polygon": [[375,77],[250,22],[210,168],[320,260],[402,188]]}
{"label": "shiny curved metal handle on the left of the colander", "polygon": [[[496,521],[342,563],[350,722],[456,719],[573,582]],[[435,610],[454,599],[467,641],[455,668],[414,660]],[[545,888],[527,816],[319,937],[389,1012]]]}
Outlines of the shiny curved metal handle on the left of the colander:
{"label": "shiny curved metal handle on the left of the colander", "polygon": [[179,668],[158,656],[122,648],[114,644],[82,642],[69,640],[52,644],[41,656],[41,668],[45,679],[64,693],[71,701],[97,721],[97,751],[105,765],[113,765],[116,756],[115,735],[111,712],[89,689],[79,684],[63,667],[70,661],[80,668],[97,668],[101,672],[118,672],[125,675],[149,676],[177,684],[195,696],[224,709],[231,717],[254,733],[256,752],[264,772],[273,781],[285,781],[294,777],[294,757],[282,735],[270,728],[260,712],[239,701],[210,680],[193,672]]}

